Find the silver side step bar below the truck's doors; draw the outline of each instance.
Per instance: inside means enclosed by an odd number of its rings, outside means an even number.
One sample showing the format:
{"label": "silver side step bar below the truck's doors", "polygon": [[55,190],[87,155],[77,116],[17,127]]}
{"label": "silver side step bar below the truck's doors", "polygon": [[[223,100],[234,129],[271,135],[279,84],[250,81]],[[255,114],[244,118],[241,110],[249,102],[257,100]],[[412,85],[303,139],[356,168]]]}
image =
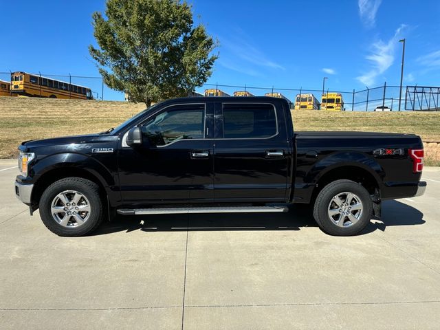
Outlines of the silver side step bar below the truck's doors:
{"label": "silver side step bar below the truck's doors", "polygon": [[252,213],[252,212],[287,212],[287,206],[230,206],[200,208],[121,208],[118,214],[188,214],[188,213]]}

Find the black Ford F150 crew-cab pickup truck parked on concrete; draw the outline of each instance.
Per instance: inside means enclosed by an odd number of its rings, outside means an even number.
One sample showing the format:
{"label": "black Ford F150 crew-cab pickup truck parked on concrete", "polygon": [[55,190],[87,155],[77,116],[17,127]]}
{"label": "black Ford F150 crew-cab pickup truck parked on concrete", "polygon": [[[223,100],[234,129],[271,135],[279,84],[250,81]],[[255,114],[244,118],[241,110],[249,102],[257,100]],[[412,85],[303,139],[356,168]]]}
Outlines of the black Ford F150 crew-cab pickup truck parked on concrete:
{"label": "black Ford F150 crew-cab pickup truck parked on concrete", "polygon": [[[325,232],[360,232],[381,201],[422,195],[412,134],[296,132],[278,98],[178,98],[115,129],[23,142],[17,197],[60,236],[116,214],[286,212],[309,203]],[[292,214],[294,217],[294,214]]]}

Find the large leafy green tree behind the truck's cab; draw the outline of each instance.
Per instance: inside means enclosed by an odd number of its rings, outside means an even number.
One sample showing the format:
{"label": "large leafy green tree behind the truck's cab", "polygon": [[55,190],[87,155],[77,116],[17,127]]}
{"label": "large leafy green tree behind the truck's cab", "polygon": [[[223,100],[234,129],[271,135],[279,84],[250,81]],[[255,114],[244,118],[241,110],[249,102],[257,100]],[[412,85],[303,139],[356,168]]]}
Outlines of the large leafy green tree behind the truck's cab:
{"label": "large leafy green tree behind the truck's cab", "polygon": [[133,102],[186,96],[212,74],[217,43],[186,1],[107,0],[105,18],[92,18],[99,49],[89,52],[104,83]]}

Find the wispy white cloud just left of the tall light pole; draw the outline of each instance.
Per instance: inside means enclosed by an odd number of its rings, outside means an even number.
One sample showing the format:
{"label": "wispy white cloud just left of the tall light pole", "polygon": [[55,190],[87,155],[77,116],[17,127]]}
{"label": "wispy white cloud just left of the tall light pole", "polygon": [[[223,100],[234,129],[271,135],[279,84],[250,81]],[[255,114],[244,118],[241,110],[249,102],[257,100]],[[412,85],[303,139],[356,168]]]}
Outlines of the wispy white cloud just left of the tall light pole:
{"label": "wispy white cloud just left of the tall light pole", "polygon": [[406,25],[400,25],[394,36],[387,42],[378,40],[371,45],[371,54],[365,56],[371,63],[371,69],[362,74],[362,76],[356,77],[356,79],[364,85],[371,86],[375,83],[377,76],[386,72],[393,65],[395,48],[398,45],[399,36],[404,28],[406,28]]}

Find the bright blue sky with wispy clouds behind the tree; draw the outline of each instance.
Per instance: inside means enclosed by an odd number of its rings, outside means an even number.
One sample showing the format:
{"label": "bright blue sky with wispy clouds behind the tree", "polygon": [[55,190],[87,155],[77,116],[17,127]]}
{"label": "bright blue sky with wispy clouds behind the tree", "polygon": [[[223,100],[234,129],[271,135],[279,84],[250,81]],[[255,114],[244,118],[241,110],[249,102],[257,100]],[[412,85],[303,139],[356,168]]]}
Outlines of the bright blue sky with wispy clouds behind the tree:
{"label": "bright blue sky with wispy clouds behind the tree", "polygon": [[[437,0],[188,2],[219,41],[208,83],[321,89],[327,76],[326,89],[338,91],[399,85],[406,38],[404,85],[440,85]],[[4,1],[0,72],[98,76],[87,50],[97,10],[104,1]],[[101,94],[98,80],[73,81]],[[105,87],[104,99],[123,96]]]}

